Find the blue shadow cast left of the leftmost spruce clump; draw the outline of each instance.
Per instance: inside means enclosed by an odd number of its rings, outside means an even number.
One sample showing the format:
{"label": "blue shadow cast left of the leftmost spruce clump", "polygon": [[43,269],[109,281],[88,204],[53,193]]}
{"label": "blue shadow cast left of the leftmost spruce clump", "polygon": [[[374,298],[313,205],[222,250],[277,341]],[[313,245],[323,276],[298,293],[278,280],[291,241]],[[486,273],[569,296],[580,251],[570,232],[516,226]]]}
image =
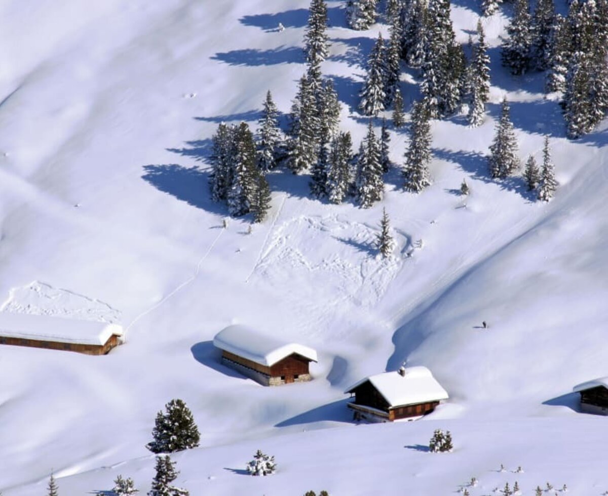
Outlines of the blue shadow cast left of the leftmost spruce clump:
{"label": "blue shadow cast left of the leftmost spruce clump", "polygon": [[182,202],[209,212],[226,215],[221,203],[212,202],[209,194],[209,172],[198,167],[178,164],[145,165],[142,178],[154,188],[176,197]]}

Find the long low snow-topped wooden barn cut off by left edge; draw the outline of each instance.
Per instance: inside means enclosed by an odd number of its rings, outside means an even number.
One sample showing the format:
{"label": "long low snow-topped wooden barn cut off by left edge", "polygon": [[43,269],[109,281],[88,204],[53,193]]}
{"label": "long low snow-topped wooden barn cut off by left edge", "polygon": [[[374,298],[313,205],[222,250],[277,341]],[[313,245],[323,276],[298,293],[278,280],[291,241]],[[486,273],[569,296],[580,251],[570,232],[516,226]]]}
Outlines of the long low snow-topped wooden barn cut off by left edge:
{"label": "long low snow-topped wooden barn cut off by left edge", "polygon": [[106,355],[123,341],[118,324],[0,312],[0,344]]}

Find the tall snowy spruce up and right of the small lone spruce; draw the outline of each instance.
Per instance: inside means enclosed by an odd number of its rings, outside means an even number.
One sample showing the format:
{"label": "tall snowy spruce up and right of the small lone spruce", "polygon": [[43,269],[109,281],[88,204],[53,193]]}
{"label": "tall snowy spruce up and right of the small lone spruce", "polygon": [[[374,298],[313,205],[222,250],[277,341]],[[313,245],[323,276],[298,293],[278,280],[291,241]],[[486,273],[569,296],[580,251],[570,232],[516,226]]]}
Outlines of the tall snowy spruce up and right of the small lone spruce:
{"label": "tall snowy spruce up and right of the small lone spruce", "polygon": [[414,104],[412,109],[410,146],[405,155],[403,176],[404,187],[407,191],[418,193],[430,185],[430,141],[429,114],[426,104],[419,101]]}

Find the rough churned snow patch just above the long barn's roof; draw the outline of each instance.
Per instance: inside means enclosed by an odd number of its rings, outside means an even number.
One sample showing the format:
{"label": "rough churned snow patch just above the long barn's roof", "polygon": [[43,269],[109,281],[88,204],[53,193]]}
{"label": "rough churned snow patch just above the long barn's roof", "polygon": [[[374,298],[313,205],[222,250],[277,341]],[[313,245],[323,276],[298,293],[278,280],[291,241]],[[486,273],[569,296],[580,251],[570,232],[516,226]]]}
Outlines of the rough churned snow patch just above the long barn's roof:
{"label": "rough churned snow patch just above the long barn's roof", "polygon": [[110,324],[120,322],[120,311],[110,305],[37,280],[10,290],[9,298],[2,304],[0,311],[52,315]]}

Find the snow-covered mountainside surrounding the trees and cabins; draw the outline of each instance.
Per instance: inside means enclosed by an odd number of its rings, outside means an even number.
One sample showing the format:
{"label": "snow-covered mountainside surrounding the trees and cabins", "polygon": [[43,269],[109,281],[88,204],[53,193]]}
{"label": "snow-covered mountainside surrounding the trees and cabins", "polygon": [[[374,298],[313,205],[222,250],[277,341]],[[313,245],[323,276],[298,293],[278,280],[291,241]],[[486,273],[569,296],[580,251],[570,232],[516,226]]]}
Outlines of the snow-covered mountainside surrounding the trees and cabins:
{"label": "snow-covered mountainside surrounding the trees and cabins", "polygon": [[[276,171],[268,219],[250,234],[248,217],[222,228],[210,138],[221,121],[255,129],[268,89],[289,112],[308,4],[0,1],[0,308],[127,330],[100,357],[0,347],[2,495],[46,494],[51,469],[61,496],[109,491],[119,474],[145,494],[145,444],[171,398],[201,431],[199,448],[173,457],[192,496],[441,496],[473,476],[472,496],[515,480],[525,495],[547,481],[608,490],[608,419],[579,413],[570,393],[608,375],[606,126],[565,138],[542,74],[500,67],[505,16],[483,21],[488,118],[432,123],[422,194],[402,191],[393,169],[373,208],[329,205],[308,197],[308,175]],[[357,93],[386,26],[355,32],[344,2],[328,7],[323,73],[357,148]],[[477,17],[473,0],[452,4],[459,41]],[[402,75],[408,109],[414,75]],[[522,163],[550,137],[561,186],[548,204],[520,178],[488,177],[505,95]],[[398,165],[406,144],[405,129],[392,132]],[[383,206],[398,243],[387,260],[370,248]],[[211,340],[237,322],[315,348],[314,381],[264,388],[218,364]],[[343,391],[406,360],[451,399],[421,421],[353,424]],[[437,428],[452,431],[452,454],[424,449]],[[244,475],[256,449],[275,455],[277,474]]]}

